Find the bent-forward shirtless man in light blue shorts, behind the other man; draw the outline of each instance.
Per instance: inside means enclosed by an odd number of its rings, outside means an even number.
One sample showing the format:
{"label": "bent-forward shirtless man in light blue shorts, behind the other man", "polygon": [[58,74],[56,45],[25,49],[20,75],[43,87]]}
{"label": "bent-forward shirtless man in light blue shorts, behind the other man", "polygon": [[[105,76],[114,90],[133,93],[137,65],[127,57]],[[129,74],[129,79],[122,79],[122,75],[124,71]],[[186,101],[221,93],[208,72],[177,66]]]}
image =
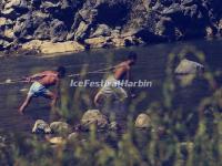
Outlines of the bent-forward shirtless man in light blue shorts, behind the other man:
{"label": "bent-forward shirtless man in light blue shorts, behind the other man", "polygon": [[43,96],[51,100],[51,106],[53,107],[57,102],[57,93],[53,93],[48,90],[48,87],[56,85],[57,91],[59,89],[59,81],[65,75],[65,69],[59,66],[57,71],[44,71],[42,73],[34,74],[30,77],[27,77],[28,82],[33,82],[26,101],[19,108],[19,113],[23,114],[26,107],[31,102],[32,97]]}

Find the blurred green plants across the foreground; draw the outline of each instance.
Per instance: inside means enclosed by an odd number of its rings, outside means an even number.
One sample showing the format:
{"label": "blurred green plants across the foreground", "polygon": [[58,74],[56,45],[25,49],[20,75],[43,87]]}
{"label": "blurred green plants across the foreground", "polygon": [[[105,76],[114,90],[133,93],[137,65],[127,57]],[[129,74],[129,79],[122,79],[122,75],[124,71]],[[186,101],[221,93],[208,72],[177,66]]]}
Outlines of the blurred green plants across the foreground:
{"label": "blurred green plants across the foreground", "polygon": [[[188,52],[195,54],[205,65],[206,72],[201,75],[209,87],[209,94],[196,106],[174,105],[175,91],[186,89],[200,75],[178,81],[173,74],[173,61],[182,59]],[[222,165],[222,89],[215,89],[220,71],[211,72],[202,52],[185,48],[180,54],[170,54],[167,65],[167,79],[162,87],[163,101],[151,103],[148,113],[152,120],[151,129],[134,127],[139,97],[129,106],[127,129],[98,133],[94,126],[87,133],[87,139],[77,138],[60,145],[51,145],[39,136],[8,135],[0,141],[0,165],[16,166],[68,166],[68,165],[117,165],[117,166],[220,166]],[[85,89],[79,89],[72,100],[83,98]],[[204,90],[206,91],[206,90]],[[62,93],[68,93],[62,90]],[[74,105],[70,112],[71,100],[63,95],[61,115],[64,120],[82,115],[81,107]],[[78,111],[79,110],[79,111]]]}

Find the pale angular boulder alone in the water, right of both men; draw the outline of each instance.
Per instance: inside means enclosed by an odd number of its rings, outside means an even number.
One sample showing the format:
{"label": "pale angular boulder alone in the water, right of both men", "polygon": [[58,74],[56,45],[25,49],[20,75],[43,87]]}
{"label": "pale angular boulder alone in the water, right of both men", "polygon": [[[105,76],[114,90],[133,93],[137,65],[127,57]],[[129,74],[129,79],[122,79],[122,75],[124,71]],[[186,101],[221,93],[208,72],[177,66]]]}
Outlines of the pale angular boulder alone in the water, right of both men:
{"label": "pale angular boulder alone in the water, right of both men", "polygon": [[203,72],[204,66],[198,62],[183,59],[178,68],[175,74],[196,74]]}

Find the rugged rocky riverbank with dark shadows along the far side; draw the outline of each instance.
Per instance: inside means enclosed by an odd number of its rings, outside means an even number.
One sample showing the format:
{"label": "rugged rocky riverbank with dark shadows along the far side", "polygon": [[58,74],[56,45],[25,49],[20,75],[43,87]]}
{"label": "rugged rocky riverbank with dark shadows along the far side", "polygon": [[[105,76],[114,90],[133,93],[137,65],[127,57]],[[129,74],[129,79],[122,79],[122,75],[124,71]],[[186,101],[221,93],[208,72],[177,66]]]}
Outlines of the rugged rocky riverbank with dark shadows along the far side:
{"label": "rugged rocky riverbank with dark shadows along the far side", "polygon": [[221,37],[221,0],[2,0],[0,51],[74,52]]}

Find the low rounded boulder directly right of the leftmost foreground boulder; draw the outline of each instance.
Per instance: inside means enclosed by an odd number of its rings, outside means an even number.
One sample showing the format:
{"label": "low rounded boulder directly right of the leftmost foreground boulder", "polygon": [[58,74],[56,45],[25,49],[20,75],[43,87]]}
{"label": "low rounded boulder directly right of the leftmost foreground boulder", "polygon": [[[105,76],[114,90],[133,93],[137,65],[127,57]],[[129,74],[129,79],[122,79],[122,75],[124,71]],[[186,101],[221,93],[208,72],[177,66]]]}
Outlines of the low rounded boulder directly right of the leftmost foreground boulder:
{"label": "low rounded boulder directly right of the leftmost foreground boulder", "polygon": [[52,122],[50,128],[56,134],[69,134],[71,132],[69,124],[65,122]]}

